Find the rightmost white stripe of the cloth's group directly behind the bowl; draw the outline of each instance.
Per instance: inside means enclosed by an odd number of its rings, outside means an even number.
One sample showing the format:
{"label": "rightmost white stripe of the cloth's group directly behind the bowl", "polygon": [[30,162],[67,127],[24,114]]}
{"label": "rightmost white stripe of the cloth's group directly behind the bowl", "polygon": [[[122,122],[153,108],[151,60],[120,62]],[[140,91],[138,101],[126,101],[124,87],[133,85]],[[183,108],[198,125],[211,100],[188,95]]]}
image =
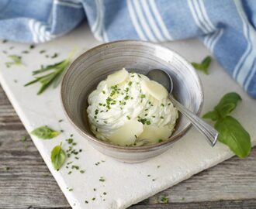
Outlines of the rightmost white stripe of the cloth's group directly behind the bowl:
{"label": "rightmost white stripe of the cloth's group directly behind the bowl", "polygon": [[154,0],[148,0],[150,9],[152,10],[154,17],[156,18],[157,25],[160,27],[162,33],[164,34],[165,39],[172,40],[170,33],[168,32],[167,27],[164,24],[164,21],[161,18],[160,13],[158,12],[157,5]]}

